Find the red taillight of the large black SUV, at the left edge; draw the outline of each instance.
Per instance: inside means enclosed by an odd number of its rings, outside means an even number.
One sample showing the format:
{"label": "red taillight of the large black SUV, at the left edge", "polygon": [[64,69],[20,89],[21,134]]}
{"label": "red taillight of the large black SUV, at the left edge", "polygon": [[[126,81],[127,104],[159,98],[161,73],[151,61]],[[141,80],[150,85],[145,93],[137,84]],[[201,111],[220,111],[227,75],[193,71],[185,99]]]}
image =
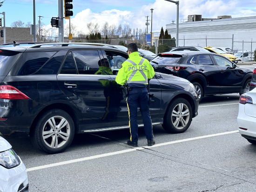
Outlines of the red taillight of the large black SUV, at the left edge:
{"label": "red taillight of the large black SUV, at the left edge", "polygon": [[13,86],[0,86],[0,99],[30,99]]}

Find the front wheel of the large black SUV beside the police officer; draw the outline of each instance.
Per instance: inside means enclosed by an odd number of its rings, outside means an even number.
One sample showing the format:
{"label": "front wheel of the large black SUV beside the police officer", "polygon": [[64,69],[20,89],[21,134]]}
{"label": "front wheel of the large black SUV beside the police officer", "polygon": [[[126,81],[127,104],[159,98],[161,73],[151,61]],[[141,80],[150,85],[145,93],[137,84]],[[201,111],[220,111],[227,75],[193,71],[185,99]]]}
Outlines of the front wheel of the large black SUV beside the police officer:
{"label": "front wheel of the large black SUV beside the police officer", "polygon": [[183,98],[176,98],[170,102],[163,118],[162,127],[169,133],[185,132],[192,121],[192,107]]}

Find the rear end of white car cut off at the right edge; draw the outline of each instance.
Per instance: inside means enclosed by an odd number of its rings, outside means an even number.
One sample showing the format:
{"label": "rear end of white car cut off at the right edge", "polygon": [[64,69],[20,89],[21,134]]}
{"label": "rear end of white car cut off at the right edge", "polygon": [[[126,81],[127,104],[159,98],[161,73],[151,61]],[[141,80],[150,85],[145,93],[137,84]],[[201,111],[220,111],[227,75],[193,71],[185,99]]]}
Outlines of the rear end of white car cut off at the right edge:
{"label": "rear end of white car cut off at the right edge", "polygon": [[237,124],[241,136],[256,145],[256,89],[240,96]]}

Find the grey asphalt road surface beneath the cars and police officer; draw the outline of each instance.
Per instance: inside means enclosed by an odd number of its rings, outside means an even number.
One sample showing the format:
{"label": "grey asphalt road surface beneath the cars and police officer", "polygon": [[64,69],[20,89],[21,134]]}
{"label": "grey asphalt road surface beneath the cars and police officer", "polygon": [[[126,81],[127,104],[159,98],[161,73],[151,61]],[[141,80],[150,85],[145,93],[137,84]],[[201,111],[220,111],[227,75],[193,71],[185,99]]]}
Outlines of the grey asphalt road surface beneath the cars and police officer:
{"label": "grey asphalt road surface beneath the cars and police officer", "polygon": [[[254,68],[254,66],[250,66]],[[4,136],[27,167],[30,192],[254,192],[256,146],[237,132],[239,94],[206,96],[181,134],[154,126],[156,145],[129,130],[75,135],[60,154]]]}

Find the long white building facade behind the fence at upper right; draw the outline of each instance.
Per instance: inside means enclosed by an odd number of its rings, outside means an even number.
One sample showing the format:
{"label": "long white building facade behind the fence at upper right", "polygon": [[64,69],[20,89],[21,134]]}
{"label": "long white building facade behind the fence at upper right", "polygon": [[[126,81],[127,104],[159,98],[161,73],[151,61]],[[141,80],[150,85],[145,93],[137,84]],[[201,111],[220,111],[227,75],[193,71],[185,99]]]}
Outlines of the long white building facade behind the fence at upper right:
{"label": "long white building facade behind the fence at upper right", "polygon": [[[167,24],[166,29],[176,39],[176,24]],[[256,16],[180,23],[179,46],[219,46],[254,51]]]}

